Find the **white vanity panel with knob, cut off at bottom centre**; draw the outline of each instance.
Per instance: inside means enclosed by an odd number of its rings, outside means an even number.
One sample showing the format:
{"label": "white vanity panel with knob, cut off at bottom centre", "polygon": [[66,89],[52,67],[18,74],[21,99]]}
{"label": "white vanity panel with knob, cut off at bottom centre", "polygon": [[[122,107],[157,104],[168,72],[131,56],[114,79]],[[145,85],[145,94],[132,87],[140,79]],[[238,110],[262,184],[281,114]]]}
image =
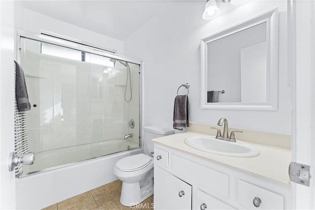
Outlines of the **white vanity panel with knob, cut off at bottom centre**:
{"label": "white vanity panel with knob, cut off at bottom centre", "polygon": [[[193,210],[202,210],[205,208],[206,210],[235,210],[235,208],[225,204],[224,202],[212,197],[211,195],[197,190],[196,198],[192,209]],[[202,207],[203,206],[203,207]]]}

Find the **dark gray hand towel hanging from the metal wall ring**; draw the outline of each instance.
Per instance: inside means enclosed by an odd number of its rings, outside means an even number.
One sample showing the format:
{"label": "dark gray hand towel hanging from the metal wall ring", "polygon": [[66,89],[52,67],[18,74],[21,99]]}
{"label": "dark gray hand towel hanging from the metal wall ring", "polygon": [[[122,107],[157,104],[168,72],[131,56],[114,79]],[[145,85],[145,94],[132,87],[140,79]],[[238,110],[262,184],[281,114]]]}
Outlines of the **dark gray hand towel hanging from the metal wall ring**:
{"label": "dark gray hand towel hanging from the metal wall ring", "polygon": [[183,130],[189,127],[188,95],[177,95],[174,101],[173,128]]}

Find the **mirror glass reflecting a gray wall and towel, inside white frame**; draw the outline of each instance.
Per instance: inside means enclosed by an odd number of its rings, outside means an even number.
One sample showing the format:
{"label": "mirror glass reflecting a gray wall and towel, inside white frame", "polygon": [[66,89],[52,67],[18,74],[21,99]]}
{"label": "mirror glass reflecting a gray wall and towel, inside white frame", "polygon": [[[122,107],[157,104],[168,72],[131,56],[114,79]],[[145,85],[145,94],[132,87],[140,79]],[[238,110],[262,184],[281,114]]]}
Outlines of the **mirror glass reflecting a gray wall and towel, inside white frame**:
{"label": "mirror glass reflecting a gray wall and towel, inside white frame", "polygon": [[266,47],[266,22],[209,42],[207,102],[266,102]]}

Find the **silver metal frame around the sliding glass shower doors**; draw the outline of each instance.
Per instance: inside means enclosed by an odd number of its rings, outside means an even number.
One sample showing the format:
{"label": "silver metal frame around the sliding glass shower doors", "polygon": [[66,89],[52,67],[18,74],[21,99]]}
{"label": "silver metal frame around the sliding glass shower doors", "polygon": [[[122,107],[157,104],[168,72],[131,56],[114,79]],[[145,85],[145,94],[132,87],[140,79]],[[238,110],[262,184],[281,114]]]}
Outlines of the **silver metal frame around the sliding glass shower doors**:
{"label": "silver metal frame around the sliding glass shower doors", "polygon": [[[66,47],[66,48],[70,48],[70,49],[74,49],[74,50],[79,50],[79,51],[83,51],[83,52],[87,52],[87,53],[91,53],[91,54],[95,54],[95,55],[99,55],[99,56],[104,56],[104,57],[108,57],[108,58],[113,58],[113,59],[117,59],[117,60],[123,60],[129,63],[134,63],[134,64],[138,64],[140,65],[139,67],[139,71],[140,71],[140,90],[139,90],[139,94],[140,94],[140,101],[139,101],[139,135],[140,135],[140,139],[139,139],[139,148],[135,148],[135,149],[131,149],[132,151],[137,151],[137,150],[142,150],[141,152],[143,152],[143,142],[142,142],[142,136],[144,136],[143,134],[143,129],[142,129],[142,124],[143,124],[143,104],[144,104],[144,100],[143,100],[143,87],[144,87],[144,77],[143,77],[143,70],[144,70],[144,62],[142,60],[136,60],[136,59],[132,59],[126,56],[122,56],[122,55],[118,55],[116,53],[111,53],[108,52],[107,50],[101,50],[100,48],[96,48],[93,46],[87,46],[87,45],[82,45],[75,43],[75,42],[71,42],[71,41],[67,41],[64,39],[58,39],[58,38],[54,38],[54,37],[49,37],[46,35],[42,35],[42,34],[35,34],[35,33],[31,33],[31,32],[27,32],[25,30],[17,30],[17,39],[16,39],[16,61],[18,63],[20,63],[20,53],[19,51],[21,50],[21,38],[27,38],[27,39],[31,39],[31,40],[35,40],[35,41],[40,41],[40,42],[45,42],[48,44],[54,44],[57,46],[61,46],[61,47]],[[128,140],[126,140],[128,141]],[[90,142],[91,143],[91,142]],[[106,154],[106,155],[102,155],[99,157],[94,157],[94,158],[90,158],[87,160],[82,160],[82,161],[75,161],[75,162],[70,162],[70,163],[66,163],[63,165],[59,165],[59,166],[55,166],[55,167],[51,167],[51,168],[47,168],[47,169],[42,169],[36,172],[32,172],[29,174],[26,174],[24,176],[21,176],[21,178],[23,177],[28,177],[28,176],[32,176],[34,174],[39,174],[42,172],[46,172],[46,171],[51,171],[51,170],[55,170],[55,169],[59,169],[59,168],[63,168],[63,167],[67,167],[67,166],[71,166],[74,164],[78,164],[78,163],[82,163],[82,162],[86,162],[86,161],[90,161],[90,160],[94,160],[95,158],[101,158],[101,157],[105,157],[105,156],[112,156],[112,155],[116,155],[116,154],[120,154],[120,153],[124,153],[127,151],[131,151],[131,150],[124,150],[124,151],[120,151],[120,152],[116,152],[116,153],[112,153],[112,154]],[[36,160],[35,160],[36,161]]]}

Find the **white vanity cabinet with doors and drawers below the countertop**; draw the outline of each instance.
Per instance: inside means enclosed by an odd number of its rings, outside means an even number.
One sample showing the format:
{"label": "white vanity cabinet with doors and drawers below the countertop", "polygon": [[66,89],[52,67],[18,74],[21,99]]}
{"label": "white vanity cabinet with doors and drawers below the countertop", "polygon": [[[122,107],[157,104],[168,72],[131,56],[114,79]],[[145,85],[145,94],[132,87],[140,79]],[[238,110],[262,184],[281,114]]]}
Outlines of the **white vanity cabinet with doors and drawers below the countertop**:
{"label": "white vanity cabinet with doors and drawers below the countertop", "polygon": [[154,161],[155,209],[291,209],[289,184],[157,143]]}

